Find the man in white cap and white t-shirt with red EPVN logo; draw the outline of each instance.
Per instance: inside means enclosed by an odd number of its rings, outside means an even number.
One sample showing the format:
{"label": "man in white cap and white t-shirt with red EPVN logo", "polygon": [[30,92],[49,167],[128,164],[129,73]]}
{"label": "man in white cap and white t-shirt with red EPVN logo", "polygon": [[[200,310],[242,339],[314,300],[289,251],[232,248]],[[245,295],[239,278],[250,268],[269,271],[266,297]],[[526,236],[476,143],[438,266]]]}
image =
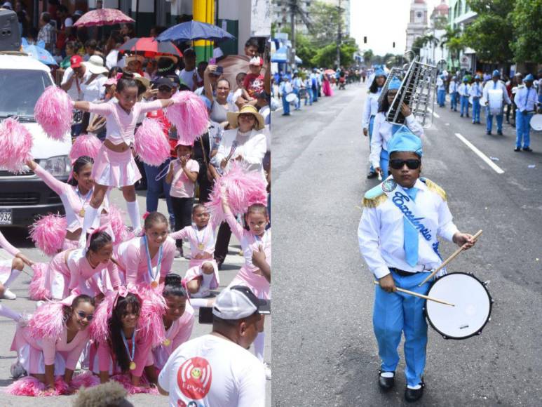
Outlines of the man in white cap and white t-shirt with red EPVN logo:
{"label": "man in white cap and white t-shirt with red EPVN logo", "polygon": [[264,407],[264,365],[247,350],[263,330],[264,305],[244,286],[218,295],[212,333],[184,342],[160,372],[170,407]]}

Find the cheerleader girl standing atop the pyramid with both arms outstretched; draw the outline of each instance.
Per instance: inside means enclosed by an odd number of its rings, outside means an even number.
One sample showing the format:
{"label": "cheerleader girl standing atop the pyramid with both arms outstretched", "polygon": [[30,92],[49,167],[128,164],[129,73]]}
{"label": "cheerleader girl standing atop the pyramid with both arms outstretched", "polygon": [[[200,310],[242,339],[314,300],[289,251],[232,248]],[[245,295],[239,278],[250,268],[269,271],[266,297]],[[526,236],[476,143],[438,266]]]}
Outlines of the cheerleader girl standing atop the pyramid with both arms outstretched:
{"label": "cheerleader girl standing atop the pyramid with both arms outstretched", "polygon": [[117,101],[100,104],[74,102],[74,109],[105,116],[107,126],[105,141],[93,167],[95,188],[90,206],[85,212],[80,247],[84,246],[86,232],[93,225],[109,187],[122,188],[133,229],[136,234],[140,232],[140,209],[134,184],[140,180],[141,174],[130,149],[134,142],[135,126],[141,114],[168,107],[173,103],[171,99],[137,102],[137,83],[127,74],[118,79],[115,97]]}

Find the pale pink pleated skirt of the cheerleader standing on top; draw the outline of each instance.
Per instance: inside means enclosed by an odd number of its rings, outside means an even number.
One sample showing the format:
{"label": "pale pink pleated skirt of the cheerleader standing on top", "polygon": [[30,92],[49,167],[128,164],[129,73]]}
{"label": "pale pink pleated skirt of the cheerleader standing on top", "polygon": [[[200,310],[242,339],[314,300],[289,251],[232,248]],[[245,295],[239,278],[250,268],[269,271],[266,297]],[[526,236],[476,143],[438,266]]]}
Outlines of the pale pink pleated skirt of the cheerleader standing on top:
{"label": "pale pink pleated skirt of the cheerleader standing on top", "polygon": [[99,185],[126,187],[141,179],[132,150],[114,152],[102,145],[93,166],[93,178]]}

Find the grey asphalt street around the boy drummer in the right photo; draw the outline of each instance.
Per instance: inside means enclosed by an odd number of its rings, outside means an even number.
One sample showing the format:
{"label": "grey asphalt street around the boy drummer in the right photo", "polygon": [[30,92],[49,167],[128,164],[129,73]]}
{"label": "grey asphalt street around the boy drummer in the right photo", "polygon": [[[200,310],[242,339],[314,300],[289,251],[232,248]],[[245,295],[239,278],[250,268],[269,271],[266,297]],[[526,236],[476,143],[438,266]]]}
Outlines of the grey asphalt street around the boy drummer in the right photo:
{"label": "grey asphalt street around the boy drummer in the right photo", "polygon": [[[381,394],[377,385],[374,286],[358,248],[361,199],[378,182],[366,178],[366,92],[361,84],[334,88],[332,98],[292,116],[273,113],[273,234],[280,236],[273,242],[276,407],[404,403],[403,360],[392,392]],[[531,133],[534,152],[513,152],[513,128],[505,124],[503,136],[485,135],[483,113],[482,125],[474,125],[447,102],[435,108],[423,140],[422,175],[445,189],[461,231],[484,231],[448,272],[490,281],[495,302],[480,336],[445,340],[429,328],[426,389],[418,404],[540,406],[542,135]],[[445,258],[455,249],[441,245]]]}

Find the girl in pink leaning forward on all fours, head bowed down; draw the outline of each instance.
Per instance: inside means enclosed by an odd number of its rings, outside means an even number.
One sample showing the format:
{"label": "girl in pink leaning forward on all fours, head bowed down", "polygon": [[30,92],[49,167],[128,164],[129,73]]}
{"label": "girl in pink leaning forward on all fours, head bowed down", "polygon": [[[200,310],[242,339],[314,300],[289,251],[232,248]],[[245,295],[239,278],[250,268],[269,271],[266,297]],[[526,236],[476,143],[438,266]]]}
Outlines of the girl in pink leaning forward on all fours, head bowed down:
{"label": "girl in pink leaning forward on all fours, head bowed down", "polygon": [[48,265],[36,265],[30,297],[63,300],[69,295],[86,294],[102,298],[118,289],[121,279],[111,260],[113,243],[104,228],[90,234],[88,248],[68,249],[55,255]]}

